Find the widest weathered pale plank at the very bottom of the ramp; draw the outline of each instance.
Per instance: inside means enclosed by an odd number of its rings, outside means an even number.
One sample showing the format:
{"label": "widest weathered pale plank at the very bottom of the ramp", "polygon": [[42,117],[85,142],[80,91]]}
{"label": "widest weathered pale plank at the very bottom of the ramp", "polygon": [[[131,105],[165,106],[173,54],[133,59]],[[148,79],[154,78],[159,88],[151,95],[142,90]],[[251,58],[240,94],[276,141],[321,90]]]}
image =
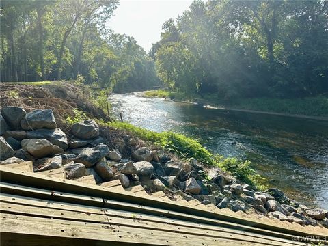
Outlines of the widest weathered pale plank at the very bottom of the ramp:
{"label": "widest weathered pale plank at the very bottom of the ramp", "polygon": [[[46,228],[46,230],[44,230]],[[107,241],[113,243],[133,243],[133,245],[260,245],[260,243],[240,242],[234,239],[209,238],[204,236],[185,237],[174,232],[157,232],[141,228],[115,226],[108,223],[89,223],[59,219],[28,217],[22,215],[1,214],[1,245],[3,234],[29,234],[41,236],[64,236],[66,238],[81,238],[88,240]],[[12,239],[16,238],[14,236]],[[54,238],[53,238],[53,241]],[[6,243],[6,242],[4,242]],[[4,244],[6,245],[6,244]],[[124,245],[124,244],[123,244]],[[128,245],[128,244],[125,244]]]}

